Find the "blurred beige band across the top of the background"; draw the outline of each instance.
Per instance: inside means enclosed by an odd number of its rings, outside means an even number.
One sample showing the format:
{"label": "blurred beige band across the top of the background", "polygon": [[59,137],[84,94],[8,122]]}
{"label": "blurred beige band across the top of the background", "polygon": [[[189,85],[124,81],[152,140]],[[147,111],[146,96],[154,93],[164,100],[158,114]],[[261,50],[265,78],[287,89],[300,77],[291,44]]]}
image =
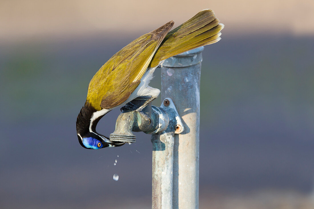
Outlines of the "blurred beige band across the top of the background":
{"label": "blurred beige band across the top of the background", "polygon": [[314,1],[310,0],[3,0],[0,40],[147,32],[171,19],[181,24],[205,8],[214,10],[225,31],[237,35],[314,34]]}

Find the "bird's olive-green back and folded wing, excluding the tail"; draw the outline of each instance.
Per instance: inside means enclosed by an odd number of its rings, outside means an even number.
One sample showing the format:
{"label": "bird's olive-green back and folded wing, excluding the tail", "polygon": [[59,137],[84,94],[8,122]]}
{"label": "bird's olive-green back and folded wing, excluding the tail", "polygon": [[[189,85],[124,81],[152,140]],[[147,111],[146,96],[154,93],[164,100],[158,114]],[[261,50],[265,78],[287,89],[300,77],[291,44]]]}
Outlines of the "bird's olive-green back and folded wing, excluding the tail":
{"label": "bird's olive-green back and folded wing, excluding the tail", "polygon": [[170,21],[132,41],[99,69],[87,93],[87,100],[96,110],[110,109],[127,100],[173,24],[174,21]]}

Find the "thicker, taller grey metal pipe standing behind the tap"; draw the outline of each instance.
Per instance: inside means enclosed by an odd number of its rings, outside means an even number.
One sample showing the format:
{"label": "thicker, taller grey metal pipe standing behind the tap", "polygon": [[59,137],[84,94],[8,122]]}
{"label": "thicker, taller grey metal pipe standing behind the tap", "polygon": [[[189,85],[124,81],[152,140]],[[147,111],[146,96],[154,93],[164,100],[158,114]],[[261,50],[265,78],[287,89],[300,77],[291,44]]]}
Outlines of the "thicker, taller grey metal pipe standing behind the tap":
{"label": "thicker, taller grey metal pipe standing behind the tap", "polygon": [[199,86],[203,49],[199,47],[168,58],[161,68],[161,99],[169,97],[173,100],[185,127],[181,134],[174,137],[174,209],[198,208]]}

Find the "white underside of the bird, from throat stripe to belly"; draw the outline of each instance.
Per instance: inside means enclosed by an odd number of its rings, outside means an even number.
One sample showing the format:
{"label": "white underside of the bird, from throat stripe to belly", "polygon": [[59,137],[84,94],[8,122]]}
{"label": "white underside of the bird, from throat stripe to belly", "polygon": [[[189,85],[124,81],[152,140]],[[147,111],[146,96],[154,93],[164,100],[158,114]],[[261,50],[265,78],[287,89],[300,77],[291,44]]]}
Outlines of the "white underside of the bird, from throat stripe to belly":
{"label": "white underside of the bird, from throat stripe to belly", "polygon": [[[164,61],[161,61],[159,64],[162,64],[163,62]],[[138,87],[133,91],[133,93],[129,96],[129,98],[125,102],[123,102],[121,105],[118,105],[116,107],[122,107],[123,105],[127,104],[128,102],[140,96],[152,96],[153,98],[157,98],[160,94],[160,90],[158,88],[152,88],[149,86],[149,82],[151,79],[153,79],[153,74],[157,67],[158,66],[148,68],[147,71],[144,73],[143,77],[141,78],[141,83],[139,83]],[[90,119],[89,131],[94,133],[92,131],[93,122],[100,116],[105,115],[107,112],[115,109],[116,107],[113,107],[111,109],[102,109],[97,112],[94,112]]]}

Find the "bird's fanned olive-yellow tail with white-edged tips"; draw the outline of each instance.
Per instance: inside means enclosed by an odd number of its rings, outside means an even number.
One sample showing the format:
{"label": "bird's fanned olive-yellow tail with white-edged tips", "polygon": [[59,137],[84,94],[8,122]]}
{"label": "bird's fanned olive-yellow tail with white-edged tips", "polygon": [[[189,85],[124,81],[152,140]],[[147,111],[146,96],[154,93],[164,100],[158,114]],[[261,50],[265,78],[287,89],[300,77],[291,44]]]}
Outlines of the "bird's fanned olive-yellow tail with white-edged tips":
{"label": "bird's fanned olive-yellow tail with white-edged tips", "polygon": [[166,35],[149,67],[155,67],[171,56],[219,41],[223,28],[213,10],[205,9],[197,13]]}

